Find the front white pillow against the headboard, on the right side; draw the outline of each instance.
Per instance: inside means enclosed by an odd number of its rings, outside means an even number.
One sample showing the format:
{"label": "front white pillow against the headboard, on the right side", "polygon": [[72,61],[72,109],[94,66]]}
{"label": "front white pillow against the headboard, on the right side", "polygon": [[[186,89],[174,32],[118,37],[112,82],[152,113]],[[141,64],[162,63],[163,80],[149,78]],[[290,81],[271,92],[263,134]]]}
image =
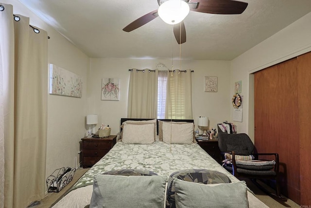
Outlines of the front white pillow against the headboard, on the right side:
{"label": "front white pillow against the headboard, on the right side", "polygon": [[193,123],[175,124],[163,122],[162,134],[165,143],[191,144],[193,143]]}

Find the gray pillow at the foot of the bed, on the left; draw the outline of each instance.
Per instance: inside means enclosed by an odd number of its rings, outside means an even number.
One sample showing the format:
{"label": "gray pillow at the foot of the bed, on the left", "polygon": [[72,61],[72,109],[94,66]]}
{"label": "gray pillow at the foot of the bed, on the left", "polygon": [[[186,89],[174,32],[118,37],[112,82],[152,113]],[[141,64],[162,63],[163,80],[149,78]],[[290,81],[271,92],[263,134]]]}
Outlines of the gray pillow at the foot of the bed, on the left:
{"label": "gray pillow at the foot of the bed, on the left", "polygon": [[166,176],[94,175],[90,208],[163,208]]}

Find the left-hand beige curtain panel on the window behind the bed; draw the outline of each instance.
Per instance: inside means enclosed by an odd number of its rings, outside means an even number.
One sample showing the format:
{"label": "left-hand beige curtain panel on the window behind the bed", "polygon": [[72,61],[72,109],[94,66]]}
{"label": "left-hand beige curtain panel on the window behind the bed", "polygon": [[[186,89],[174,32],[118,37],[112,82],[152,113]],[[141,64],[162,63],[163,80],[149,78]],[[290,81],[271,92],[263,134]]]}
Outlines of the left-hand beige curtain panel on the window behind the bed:
{"label": "left-hand beige curtain panel on the window behind the bed", "polygon": [[127,117],[156,118],[158,71],[133,69],[130,73]]}

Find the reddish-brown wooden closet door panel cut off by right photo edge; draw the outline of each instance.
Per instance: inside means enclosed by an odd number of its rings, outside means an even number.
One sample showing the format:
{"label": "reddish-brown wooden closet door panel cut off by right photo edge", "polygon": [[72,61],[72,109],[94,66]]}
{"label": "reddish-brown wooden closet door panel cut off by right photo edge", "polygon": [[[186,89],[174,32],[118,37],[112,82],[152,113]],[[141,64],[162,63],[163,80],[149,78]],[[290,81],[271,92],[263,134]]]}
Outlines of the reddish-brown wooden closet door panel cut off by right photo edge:
{"label": "reddish-brown wooden closet door panel cut off by right photo edge", "polygon": [[297,57],[300,138],[300,204],[311,205],[311,52]]}

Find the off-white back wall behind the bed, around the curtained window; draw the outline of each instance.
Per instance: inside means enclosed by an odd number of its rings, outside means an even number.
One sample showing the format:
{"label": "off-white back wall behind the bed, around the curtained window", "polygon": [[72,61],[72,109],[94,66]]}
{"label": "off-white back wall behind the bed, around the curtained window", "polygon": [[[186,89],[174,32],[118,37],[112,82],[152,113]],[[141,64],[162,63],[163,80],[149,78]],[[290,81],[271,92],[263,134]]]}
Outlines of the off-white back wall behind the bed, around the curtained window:
{"label": "off-white back wall behind the bed, around the curtained window", "polygon": [[[111,127],[111,134],[120,132],[120,118],[127,116],[127,94],[130,72],[128,69],[155,69],[158,63],[171,68],[172,60],[168,59],[105,59],[91,58],[88,81],[87,113],[97,113],[99,124]],[[178,61],[176,61],[178,62]],[[179,68],[179,62],[174,68]],[[182,60],[182,69],[191,69],[192,74],[192,109],[195,124],[197,117],[209,117],[210,128],[216,128],[218,122],[230,119],[229,61],[191,61]],[[204,92],[204,76],[218,77],[218,92]],[[102,78],[120,78],[120,101],[101,100]]]}

